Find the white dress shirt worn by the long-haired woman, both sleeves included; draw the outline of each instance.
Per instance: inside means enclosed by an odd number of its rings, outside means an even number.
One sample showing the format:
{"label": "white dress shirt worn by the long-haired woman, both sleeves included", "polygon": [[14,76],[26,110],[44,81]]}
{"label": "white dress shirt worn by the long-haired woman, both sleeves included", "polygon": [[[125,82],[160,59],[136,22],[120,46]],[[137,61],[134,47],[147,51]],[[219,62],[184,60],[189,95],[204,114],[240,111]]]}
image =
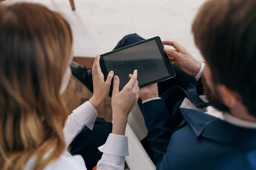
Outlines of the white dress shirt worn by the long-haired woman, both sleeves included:
{"label": "white dress shirt worn by the long-haired woman, both sleeves included", "polygon": [[[85,102],[71,113],[63,129],[66,146],[68,147],[83,127],[93,130],[98,113],[90,102]],[[123,170],[125,156],[128,156],[127,136],[110,133],[104,145],[99,147],[103,153],[102,159],[97,164],[97,170]],[[93,153],[92,153],[93,154]],[[25,170],[32,170],[35,157],[29,160]],[[67,150],[45,170],[87,170],[86,162],[80,155],[72,156]]]}

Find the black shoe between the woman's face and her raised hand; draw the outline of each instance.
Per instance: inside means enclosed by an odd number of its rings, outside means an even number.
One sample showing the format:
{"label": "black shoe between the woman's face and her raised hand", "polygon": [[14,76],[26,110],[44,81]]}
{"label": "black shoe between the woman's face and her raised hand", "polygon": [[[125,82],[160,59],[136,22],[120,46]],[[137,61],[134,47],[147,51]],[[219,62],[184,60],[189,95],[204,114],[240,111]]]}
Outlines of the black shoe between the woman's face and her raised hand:
{"label": "black shoe between the woman's face and her raised hand", "polygon": [[92,76],[91,70],[88,70],[86,67],[74,61],[71,63],[70,68],[73,76],[81,83],[83,83],[93,93],[92,77],[89,78],[89,76]]}

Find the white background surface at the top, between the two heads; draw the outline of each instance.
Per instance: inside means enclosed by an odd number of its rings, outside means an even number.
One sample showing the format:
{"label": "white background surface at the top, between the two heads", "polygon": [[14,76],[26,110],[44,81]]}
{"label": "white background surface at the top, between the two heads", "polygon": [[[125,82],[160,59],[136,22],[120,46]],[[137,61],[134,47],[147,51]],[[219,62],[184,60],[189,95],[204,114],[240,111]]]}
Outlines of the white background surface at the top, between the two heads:
{"label": "white background surface at the top, between the two heads", "polygon": [[160,36],[185,46],[202,60],[194,45],[191,24],[205,0],[7,0],[43,3],[69,20],[74,34],[74,55],[95,57],[111,51],[126,34],[145,39]]}

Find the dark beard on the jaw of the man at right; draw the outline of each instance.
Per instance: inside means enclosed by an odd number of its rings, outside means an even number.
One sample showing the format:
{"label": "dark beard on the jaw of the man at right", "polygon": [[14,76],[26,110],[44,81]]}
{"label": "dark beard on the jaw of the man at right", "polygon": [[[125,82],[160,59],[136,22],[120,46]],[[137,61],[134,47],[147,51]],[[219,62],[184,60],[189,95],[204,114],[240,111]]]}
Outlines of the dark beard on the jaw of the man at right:
{"label": "dark beard on the jaw of the man at right", "polygon": [[204,79],[202,80],[204,84],[204,94],[207,97],[210,105],[219,111],[229,112],[230,111],[229,108],[221,102],[221,99],[220,99],[221,95],[219,94],[218,90],[214,88],[212,92],[208,87],[207,83],[205,82],[205,80]]}

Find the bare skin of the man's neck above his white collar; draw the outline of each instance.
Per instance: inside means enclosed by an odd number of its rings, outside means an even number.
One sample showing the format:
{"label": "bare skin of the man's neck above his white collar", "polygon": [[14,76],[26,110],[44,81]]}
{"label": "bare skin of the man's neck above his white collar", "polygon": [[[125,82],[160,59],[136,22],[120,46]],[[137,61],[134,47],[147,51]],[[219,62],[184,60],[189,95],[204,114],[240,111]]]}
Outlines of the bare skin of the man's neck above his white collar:
{"label": "bare skin of the man's neck above his white collar", "polygon": [[247,111],[247,108],[245,108],[241,103],[238,103],[232,110],[230,110],[230,114],[241,120],[256,122],[256,117],[252,116]]}

